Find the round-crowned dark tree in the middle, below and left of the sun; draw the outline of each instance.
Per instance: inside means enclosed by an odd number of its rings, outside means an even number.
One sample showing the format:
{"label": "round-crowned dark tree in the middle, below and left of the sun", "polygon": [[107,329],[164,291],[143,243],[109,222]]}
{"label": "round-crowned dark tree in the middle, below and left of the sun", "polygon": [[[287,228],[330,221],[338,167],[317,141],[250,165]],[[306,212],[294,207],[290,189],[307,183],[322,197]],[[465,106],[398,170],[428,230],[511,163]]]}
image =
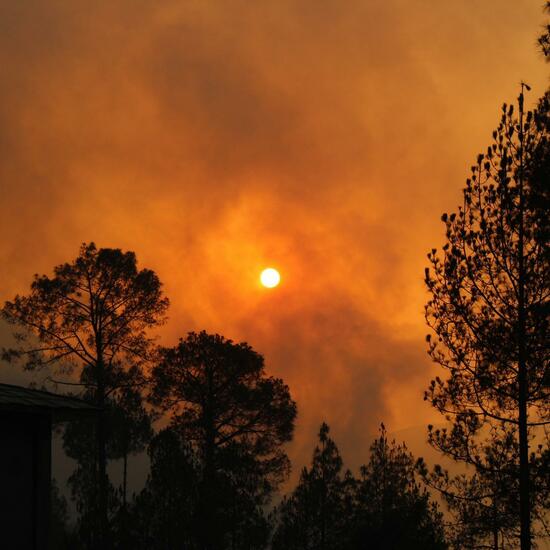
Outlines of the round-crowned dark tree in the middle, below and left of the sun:
{"label": "round-crowned dark tree in the middle, below and left of the sun", "polygon": [[170,411],[171,429],[199,460],[200,547],[240,548],[243,502],[260,514],[289,471],[282,445],[292,438],[296,405],[288,387],[266,376],[250,346],[206,332],[164,349],[152,376],[153,402]]}

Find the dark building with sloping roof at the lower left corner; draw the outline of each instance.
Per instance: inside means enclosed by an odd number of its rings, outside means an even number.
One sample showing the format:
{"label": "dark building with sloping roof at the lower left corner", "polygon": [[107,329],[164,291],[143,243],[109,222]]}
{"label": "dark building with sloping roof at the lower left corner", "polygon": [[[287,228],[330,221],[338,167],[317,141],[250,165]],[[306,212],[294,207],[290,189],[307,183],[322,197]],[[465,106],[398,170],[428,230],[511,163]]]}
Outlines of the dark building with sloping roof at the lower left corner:
{"label": "dark building with sloping roof at the lower left corner", "polygon": [[48,547],[52,423],[96,410],[76,398],[0,384],[0,548]]}

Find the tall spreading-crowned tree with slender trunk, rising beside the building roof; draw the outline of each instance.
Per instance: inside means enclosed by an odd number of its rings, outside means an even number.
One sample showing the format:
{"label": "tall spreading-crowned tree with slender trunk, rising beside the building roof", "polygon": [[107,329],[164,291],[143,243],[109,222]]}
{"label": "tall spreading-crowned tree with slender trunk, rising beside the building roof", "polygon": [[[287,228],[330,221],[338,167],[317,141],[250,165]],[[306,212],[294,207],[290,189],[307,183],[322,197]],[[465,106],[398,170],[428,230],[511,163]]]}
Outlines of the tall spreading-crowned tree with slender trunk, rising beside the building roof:
{"label": "tall spreading-crowned tree with slender trunk, rising beside the building roof", "polygon": [[[6,302],[2,316],[21,329],[19,347],[4,350],[5,359],[22,359],[25,368],[45,365],[61,382],[81,385],[103,410],[107,399],[128,383],[142,384],[142,366],[150,358],[147,330],[162,323],[168,307],[161,283],[148,269],[138,270],[133,252],[83,244],[71,263],[54,268],[54,276],[35,276],[27,296]],[[97,489],[97,537],[94,548],[108,548],[106,421],[98,414],[94,468]]]}

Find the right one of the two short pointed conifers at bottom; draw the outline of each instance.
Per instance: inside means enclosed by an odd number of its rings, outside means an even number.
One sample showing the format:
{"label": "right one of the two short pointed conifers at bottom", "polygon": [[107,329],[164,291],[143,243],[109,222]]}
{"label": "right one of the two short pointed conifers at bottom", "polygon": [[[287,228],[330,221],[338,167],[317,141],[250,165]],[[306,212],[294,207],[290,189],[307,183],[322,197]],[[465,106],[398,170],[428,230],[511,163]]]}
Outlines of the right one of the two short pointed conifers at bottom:
{"label": "right one of the two short pointed conifers at bottom", "polygon": [[417,480],[415,459],[403,443],[389,442],[382,424],[357,481],[349,548],[445,550],[443,516]]}

